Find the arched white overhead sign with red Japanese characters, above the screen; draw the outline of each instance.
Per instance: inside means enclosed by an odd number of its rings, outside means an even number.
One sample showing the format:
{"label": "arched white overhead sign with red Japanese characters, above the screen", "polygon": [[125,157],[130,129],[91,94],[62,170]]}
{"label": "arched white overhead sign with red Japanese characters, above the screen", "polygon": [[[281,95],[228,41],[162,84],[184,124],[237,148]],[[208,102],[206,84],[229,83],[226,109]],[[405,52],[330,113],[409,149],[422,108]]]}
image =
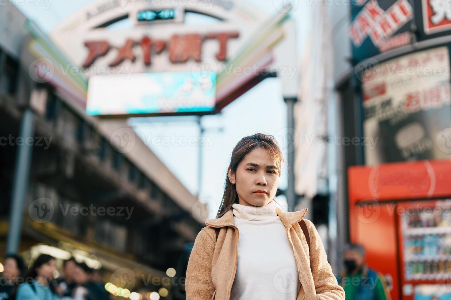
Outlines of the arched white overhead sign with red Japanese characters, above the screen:
{"label": "arched white overhead sign with red Japanese characters, above the screen", "polygon": [[[239,53],[268,18],[245,1],[227,0],[226,6],[213,0],[172,2],[169,7],[161,1],[128,0],[116,7],[115,1],[96,0],[66,18],[51,38],[75,66],[89,69],[83,72],[88,76],[99,68],[118,74],[191,72],[207,64],[216,65],[219,73],[222,62]],[[190,18],[210,16],[211,23],[189,25],[185,12]],[[118,20],[133,26],[120,29]]]}

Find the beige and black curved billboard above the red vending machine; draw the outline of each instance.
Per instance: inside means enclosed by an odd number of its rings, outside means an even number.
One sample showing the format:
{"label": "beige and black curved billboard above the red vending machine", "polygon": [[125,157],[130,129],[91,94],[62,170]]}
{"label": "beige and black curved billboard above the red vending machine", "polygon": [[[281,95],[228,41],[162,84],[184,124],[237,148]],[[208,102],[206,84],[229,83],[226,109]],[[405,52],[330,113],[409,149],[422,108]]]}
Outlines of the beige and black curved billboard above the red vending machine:
{"label": "beige and black curved billboard above the red vending machine", "polygon": [[[449,158],[440,143],[451,134],[449,49],[423,50],[363,72],[367,165]],[[443,146],[443,147],[442,147]]]}

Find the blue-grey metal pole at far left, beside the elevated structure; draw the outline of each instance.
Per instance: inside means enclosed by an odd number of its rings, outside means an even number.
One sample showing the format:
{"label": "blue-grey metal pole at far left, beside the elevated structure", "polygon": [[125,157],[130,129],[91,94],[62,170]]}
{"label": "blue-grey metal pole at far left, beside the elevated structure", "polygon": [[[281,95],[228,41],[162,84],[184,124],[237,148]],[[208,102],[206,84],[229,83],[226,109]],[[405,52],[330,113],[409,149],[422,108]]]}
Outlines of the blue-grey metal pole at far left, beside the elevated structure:
{"label": "blue-grey metal pole at far left, beside the elevated structure", "polygon": [[9,213],[9,228],[6,242],[6,253],[17,253],[20,232],[22,228],[23,203],[28,190],[28,179],[31,170],[31,157],[33,144],[26,141],[31,137],[34,139],[33,112],[26,108],[23,112],[22,123],[20,125],[19,137],[25,141],[17,146],[16,165],[14,168],[13,191],[11,199],[11,210]]}

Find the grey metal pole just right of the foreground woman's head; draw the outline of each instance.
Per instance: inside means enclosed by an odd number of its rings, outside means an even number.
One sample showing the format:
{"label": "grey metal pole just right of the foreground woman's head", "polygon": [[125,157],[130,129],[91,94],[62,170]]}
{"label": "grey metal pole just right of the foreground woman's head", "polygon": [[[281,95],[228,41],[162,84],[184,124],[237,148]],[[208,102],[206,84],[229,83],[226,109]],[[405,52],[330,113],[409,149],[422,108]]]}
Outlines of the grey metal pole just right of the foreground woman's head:
{"label": "grey metal pole just right of the foreground woman's head", "polygon": [[295,103],[297,98],[285,98],[286,110],[287,110],[287,160],[289,165],[288,170],[288,187],[286,189],[286,202],[288,204],[288,211],[294,211],[296,206],[296,193],[295,193]]}

